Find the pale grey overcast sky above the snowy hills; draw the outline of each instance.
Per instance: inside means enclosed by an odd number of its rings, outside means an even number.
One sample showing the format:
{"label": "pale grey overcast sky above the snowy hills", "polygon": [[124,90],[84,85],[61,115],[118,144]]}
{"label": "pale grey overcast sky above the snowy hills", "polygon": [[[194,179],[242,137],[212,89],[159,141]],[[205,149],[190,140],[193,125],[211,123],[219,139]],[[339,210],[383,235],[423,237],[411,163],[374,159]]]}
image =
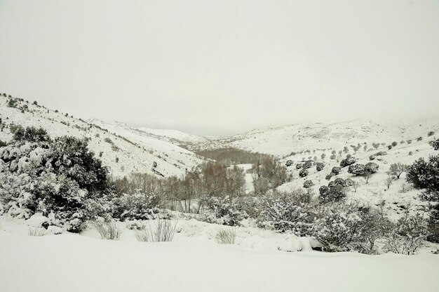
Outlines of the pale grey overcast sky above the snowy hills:
{"label": "pale grey overcast sky above the snowy hills", "polygon": [[439,114],[439,1],[3,1],[0,92],[229,135]]}

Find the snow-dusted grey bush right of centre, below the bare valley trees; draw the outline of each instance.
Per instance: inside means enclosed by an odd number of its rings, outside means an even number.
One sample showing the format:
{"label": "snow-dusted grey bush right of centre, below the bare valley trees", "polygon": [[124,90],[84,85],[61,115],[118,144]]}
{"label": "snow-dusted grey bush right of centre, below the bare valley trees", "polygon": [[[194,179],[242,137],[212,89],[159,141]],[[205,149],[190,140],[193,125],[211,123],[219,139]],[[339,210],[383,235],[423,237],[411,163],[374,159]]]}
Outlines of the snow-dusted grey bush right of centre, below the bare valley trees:
{"label": "snow-dusted grey bush right of centre, below the bare valley trees", "polygon": [[312,192],[274,192],[264,197],[260,221],[275,230],[290,230],[298,236],[309,234],[313,221]]}

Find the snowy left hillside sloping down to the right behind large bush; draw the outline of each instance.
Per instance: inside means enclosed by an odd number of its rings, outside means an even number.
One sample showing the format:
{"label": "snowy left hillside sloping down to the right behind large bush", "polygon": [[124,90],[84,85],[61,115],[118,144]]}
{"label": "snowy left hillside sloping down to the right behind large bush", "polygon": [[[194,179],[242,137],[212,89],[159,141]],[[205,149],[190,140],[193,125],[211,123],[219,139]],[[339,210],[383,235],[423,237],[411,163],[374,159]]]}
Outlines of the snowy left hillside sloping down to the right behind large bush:
{"label": "snowy left hillside sloping down to the right behind large bush", "polygon": [[[143,135],[123,124],[90,124],[31,102],[18,101],[16,107],[8,107],[7,102],[8,98],[0,97],[0,117],[4,124],[41,126],[53,137],[73,135],[88,138],[90,150],[111,168],[112,175],[126,175],[135,171],[161,173],[166,177],[180,176],[201,162],[194,153],[182,147]],[[0,132],[0,140],[11,140],[9,130],[4,128]],[[156,172],[152,171],[154,162],[157,164]]]}

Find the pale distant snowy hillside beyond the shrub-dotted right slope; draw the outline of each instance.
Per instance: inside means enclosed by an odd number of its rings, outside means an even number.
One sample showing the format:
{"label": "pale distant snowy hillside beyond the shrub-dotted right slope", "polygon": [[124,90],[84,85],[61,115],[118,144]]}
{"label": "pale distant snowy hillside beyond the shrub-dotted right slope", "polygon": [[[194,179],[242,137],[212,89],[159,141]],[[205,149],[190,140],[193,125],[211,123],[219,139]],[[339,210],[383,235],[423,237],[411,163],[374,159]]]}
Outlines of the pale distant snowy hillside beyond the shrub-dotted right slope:
{"label": "pale distant snowy hillside beyond the shrub-dotted right slope", "polygon": [[[297,124],[253,130],[228,138],[211,140],[201,148],[236,147],[253,152],[284,157],[291,152],[342,150],[358,143],[372,147],[372,142],[415,139],[439,129],[439,119],[414,121],[371,121],[358,119],[335,123]],[[314,154],[313,154],[314,155]]]}

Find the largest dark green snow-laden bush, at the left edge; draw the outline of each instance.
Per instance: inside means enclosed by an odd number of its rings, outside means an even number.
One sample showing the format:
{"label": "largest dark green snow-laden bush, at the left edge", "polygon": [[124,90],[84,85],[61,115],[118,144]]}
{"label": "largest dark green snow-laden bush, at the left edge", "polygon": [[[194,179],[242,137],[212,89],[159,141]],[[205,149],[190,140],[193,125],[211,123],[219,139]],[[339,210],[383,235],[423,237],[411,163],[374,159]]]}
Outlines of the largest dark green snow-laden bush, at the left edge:
{"label": "largest dark green snow-laden bush, at the left edge", "polygon": [[85,140],[46,140],[26,134],[34,130],[24,133],[0,148],[4,211],[18,218],[53,214],[56,224],[80,232],[95,210],[102,210],[97,205],[107,188],[107,168],[88,151]]}

